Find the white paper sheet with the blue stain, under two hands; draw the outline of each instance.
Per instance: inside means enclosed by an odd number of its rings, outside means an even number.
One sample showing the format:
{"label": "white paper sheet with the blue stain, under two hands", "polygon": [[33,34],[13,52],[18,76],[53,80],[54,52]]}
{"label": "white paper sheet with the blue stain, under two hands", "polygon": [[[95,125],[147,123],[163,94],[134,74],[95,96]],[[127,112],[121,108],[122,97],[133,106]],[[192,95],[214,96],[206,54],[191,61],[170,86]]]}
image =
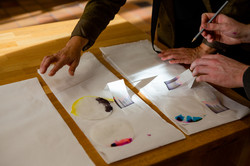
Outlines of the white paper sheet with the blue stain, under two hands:
{"label": "white paper sheet with the blue stain, under two hands", "polygon": [[[168,90],[164,82],[180,75],[185,69],[180,65],[161,61],[147,40],[103,47],[100,50],[113,67],[188,135],[240,119],[250,112],[249,108],[231,100],[206,83],[200,83],[196,88],[190,89],[193,79],[176,89]],[[197,96],[197,93],[201,94],[200,91],[204,89],[208,90],[207,94],[215,94],[229,110],[218,114],[211,111],[200,99],[204,96]],[[181,112],[193,116],[194,110],[196,114],[205,112],[206,116],[193,123],[183,123],[175,119],[174,115],[177,116]]]}

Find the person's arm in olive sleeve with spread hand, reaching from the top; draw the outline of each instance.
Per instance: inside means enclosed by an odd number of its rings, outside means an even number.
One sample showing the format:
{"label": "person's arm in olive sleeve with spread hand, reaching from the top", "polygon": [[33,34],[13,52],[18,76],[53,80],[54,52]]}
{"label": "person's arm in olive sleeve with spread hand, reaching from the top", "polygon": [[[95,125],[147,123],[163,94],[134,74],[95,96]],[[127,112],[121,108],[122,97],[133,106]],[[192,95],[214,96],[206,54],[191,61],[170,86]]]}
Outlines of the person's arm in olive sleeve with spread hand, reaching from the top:
{"label": "person's arm in olive sleeve with spread hand, reaching from the top", "polygon": [[74,75],[81,50],[86,50],[94,44],[125,2],[125,0],[90,0],[66,46],[57,53],[44,57],[40,65],[40,72],[44,74],[47,68],[54,63],[55,66],[49,72],[50,76],[56,74],[64,65],[69,65],[69,74]]}

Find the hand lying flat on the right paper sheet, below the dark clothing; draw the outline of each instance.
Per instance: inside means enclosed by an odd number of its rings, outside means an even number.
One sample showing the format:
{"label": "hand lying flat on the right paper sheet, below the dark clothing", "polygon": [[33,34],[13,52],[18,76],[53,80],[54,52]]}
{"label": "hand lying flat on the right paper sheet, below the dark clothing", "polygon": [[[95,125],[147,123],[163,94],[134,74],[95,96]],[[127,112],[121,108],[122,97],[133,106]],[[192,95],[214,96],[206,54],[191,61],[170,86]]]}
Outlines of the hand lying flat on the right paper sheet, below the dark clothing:
{"label": "hand lying flat on the right paper sheet, below the dark clothing", "polygon": [[195,59],[200,58],[203,54],[212,53],[214,51],[214,48],[202,43],[196,48],[171,48],[163,50],[158,54],[158,56],[162,61],[169,61],[170,64],[191,64]]}

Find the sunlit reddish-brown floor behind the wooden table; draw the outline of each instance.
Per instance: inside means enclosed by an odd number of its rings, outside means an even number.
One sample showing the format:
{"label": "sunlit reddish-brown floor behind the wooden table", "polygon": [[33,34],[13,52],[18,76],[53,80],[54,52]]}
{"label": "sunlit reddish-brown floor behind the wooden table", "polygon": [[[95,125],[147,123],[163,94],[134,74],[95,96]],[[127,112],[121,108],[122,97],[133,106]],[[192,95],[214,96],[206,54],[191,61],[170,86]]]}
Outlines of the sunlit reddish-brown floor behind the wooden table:
{"label": "sunlit reddish-brown floor behind the wooden table", "polygon": [[[119,14],[149,33],[152,1],[127,0]],[[80,18],[86,3],[86,0],[1,0],[0,30]]]}

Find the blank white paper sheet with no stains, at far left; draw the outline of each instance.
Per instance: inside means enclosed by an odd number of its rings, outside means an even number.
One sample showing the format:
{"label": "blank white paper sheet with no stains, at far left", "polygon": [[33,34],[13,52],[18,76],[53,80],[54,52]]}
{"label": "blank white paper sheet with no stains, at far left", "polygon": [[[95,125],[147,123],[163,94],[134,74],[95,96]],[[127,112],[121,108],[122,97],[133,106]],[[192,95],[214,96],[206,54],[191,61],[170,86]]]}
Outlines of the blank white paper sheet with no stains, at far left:
{"label": "blank white paper sheet with no stains, at far left", "polygon": [[0,86],[0,94],[0,165],[94,165],[37,78]]}

